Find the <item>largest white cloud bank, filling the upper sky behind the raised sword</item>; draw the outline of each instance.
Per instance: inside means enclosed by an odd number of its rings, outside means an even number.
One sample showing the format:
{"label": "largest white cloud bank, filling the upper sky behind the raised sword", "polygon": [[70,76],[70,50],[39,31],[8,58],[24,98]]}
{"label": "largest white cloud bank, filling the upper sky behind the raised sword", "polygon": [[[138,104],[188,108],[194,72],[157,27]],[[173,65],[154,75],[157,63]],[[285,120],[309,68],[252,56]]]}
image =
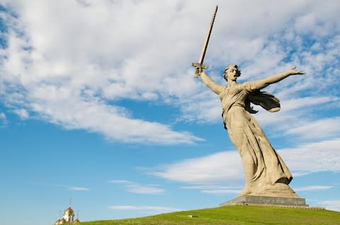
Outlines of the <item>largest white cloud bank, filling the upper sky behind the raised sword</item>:
{"label": "largest white cloud bank, filling the upper sky behind the raised sword", "polygon": [[[190,68],[206,31],[196,25],[208,25],[216,3],[3,1],[18,16],[1,12],[8,47],[0,52],[0,95],[14,110],[25,108],[27,115],[111,140],[200,141],[166,124],[136,118],[135,111],[122,109],[117,101],[170,104],[183,114],[179,121],[220,123],[217,97],[193,78]],[[298,99],[299,91],[308,89],[314,90],[310,98],[325,96],[325,91],[336,95],[339,4],[225,1],[219,6],[206,56],[211,74],[239,63],[241,78],[254,80],[297,63],[307,75],[273,85],[273,92],[285,99]]]}

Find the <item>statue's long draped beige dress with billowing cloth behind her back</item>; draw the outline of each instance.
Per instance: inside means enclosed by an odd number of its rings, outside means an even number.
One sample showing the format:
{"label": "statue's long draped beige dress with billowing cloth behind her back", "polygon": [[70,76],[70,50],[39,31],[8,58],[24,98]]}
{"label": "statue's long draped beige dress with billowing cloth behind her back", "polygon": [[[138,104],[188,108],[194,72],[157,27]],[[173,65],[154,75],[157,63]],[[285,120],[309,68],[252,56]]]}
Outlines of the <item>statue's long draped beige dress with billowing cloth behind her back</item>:
{"label": "statue's long draped beige dress with billowing cloth behind her back", "polygon": [[288,167],[247,109],[249,101],[268,111],[278,111],[280,100],[268,92],[247,90],[245,85],[225,87],[220,99],[225,128],[242,157],[245,174],[249,176],[246,185],[250,191],[258,191],[277,182],[288,185],[293,178]]}

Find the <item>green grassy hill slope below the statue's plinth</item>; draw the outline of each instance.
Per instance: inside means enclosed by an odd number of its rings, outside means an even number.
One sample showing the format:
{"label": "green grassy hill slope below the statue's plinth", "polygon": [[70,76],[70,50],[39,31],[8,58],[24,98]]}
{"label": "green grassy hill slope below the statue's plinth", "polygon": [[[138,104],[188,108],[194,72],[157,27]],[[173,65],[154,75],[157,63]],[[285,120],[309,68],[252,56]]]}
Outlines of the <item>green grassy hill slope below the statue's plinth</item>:
{"label": "green grassy hill slope below the statue's plinth", "polygon": [[[188,217],[194,215],[196,217]],[[229,224],[340,224],[340,212],[324,209],[298,209],[232,205],[159,214],[135,219],[82,222],[81,225],[229,225]]]}

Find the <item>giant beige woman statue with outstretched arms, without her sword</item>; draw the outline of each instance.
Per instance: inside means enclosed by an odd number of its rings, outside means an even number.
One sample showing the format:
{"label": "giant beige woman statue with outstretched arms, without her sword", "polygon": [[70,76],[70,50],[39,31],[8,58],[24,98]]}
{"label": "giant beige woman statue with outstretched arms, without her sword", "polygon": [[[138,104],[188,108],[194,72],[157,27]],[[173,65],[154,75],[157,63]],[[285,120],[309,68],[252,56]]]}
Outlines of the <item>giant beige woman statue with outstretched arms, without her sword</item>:
{"label": "giant beige woman statue with outstretched arms, without her sword", "polygon": [[291,68],[262,80],[239,84],[237,77],[241,72],[237,65],[231,65],[224,71],[227,85],[218,85],[212,81],[202,68],[196,67],[196,73],[200,75],[203,83],[220,97],[225,128],[242,158],[245,186],[239,197],[244,195],[298,197],[289,186],[293,179],[292,174],[278,152],[271,147],[259,123],[251,116],[256,111],[250,104],[260,105],[267,111],[278,111],[279,99],[260,90],[290,75],[301,75],[305,72]]}

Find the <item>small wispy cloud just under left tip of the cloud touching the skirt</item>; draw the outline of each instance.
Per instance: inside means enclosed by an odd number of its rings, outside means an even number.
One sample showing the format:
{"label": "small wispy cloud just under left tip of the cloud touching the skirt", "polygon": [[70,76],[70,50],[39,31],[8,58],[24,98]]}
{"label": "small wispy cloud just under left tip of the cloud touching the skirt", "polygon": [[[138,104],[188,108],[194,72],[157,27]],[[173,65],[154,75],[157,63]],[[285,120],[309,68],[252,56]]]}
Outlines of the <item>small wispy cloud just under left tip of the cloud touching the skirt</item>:
{"label": "small wispy cloud just under left tip of the cloud touching the skirt", "polygon": [[126,191],[136,194],[149,194],[157,195],[165,192],[162,188],[157,188],[155,185],[141,185],[132,181],[109,181],[110,183],[121,184],[125,187]]}

